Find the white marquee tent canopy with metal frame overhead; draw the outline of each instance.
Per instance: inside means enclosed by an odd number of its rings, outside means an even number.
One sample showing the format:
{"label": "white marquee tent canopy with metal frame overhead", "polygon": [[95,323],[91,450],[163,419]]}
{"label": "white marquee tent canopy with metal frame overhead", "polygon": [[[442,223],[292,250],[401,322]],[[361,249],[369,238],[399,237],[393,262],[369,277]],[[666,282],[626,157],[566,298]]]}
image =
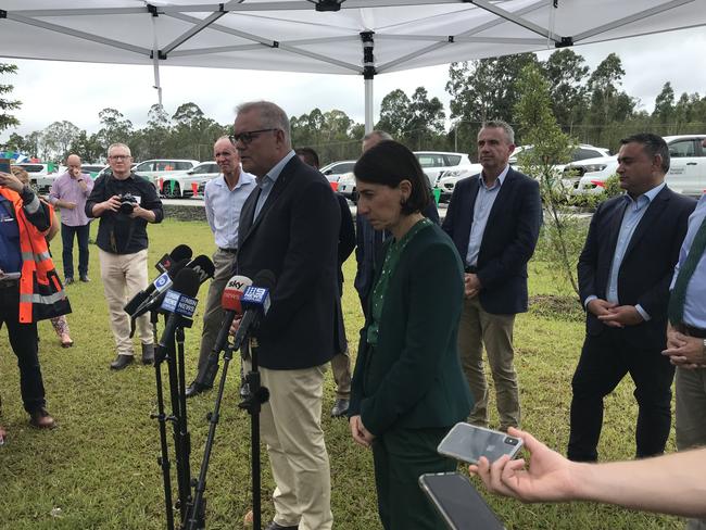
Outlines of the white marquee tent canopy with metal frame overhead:
{"label": "white marquee tent canopy with metal frame overhead", "polygon": [[361,75],[369,130],[375,75],[704,25],[706,0],[0,0],[0,56]]}

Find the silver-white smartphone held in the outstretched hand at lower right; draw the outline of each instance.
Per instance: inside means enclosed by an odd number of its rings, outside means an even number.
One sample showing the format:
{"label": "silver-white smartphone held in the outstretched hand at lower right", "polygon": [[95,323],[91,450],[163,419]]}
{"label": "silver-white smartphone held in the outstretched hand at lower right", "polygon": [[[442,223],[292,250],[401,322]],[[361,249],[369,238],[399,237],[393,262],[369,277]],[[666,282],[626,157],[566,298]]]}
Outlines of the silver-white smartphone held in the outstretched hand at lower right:
{"label": "silver-white smartphone held in the outstretched hand at lower right", "polygon": [[456,424],[441,441],[437,451],[457,460],[477,464],[481,456],[493,463],[503,455],[515,458],[522,447],[522,439],[505,432]]}

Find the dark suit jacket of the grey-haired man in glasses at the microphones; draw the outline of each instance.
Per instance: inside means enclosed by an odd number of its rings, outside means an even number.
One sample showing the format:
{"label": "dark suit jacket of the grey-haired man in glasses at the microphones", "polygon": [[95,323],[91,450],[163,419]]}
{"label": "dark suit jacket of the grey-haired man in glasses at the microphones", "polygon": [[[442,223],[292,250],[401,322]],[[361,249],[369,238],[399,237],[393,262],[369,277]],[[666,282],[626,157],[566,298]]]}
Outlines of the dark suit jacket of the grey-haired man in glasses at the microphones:
{"label": "dark suit jacket of the grey-haired man in glasses at the microphones", "polygon": [[329,182],[298,156],[280,173],[257,219],[260,188],[240,214],[237,274],[277,278],[261,323],[259,362],[270,369],[318,366],[336,352],[338,237],[341,213]]}

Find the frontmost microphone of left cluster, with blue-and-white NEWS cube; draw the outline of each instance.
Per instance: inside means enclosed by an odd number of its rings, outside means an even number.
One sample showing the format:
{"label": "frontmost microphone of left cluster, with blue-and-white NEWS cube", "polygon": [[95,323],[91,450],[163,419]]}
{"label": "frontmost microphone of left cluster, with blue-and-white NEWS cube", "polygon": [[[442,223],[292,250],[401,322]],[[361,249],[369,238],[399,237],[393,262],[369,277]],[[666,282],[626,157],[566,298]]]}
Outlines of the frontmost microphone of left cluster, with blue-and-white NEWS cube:
{"label": "frontmost microphone of left cluster, with blue-and-white NEWS cube", "polygon": [[168,346],[174,340],[177,328],[190,327],[191,317],[197,308],[199,292],[199,274],[192,268],[182,268],[174,278],[174,289],[164,293],[161,308],[169,313],[162,338],[154,355],[155,365],[164,361]]}

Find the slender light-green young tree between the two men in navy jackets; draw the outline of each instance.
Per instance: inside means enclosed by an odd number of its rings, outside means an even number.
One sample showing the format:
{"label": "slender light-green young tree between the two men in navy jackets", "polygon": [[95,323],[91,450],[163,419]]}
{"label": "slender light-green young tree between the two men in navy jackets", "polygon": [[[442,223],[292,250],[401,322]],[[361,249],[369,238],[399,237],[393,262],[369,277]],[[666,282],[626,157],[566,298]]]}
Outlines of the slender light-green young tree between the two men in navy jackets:
{"label": "slender light-green young tree between the two men in navy jackets", "polygon": [[517,81],[518,102],[515,117],[519,132],[532,149],[520,153],[522,171],[540,182],[542,202],[547,210],[543,227],[547,256],[579,293],[576,262],[581,250],[578,220],[565,206],[566,192],[555,164],[567,163],[575,147],[552,114],[550,85],[537,65],[522,68]]}

